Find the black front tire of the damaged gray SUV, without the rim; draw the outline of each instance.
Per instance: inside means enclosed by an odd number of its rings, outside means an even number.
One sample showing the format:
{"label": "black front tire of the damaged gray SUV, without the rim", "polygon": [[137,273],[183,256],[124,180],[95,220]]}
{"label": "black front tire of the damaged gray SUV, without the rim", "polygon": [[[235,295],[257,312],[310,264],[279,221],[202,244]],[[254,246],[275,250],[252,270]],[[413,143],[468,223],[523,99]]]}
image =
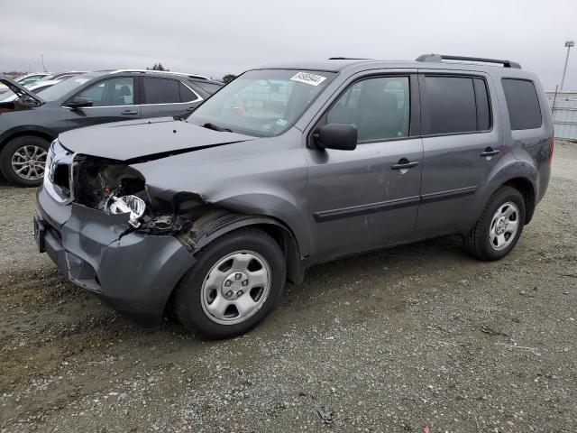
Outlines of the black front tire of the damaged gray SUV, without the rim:
{"label": "black front tire of the damaged gray SUV, without the rim", "polygon": [[[251,317],[238,324],[216,323],[203,309],[202,286],[208,272],[227,254],[249,250],[261,255],[270,267],[270,291]],[[184,327],[205,338],[229,338],[258,325],[274,308],[286,281],[284,254],[270,235],[255,228],[241,228],[223,235],[196,254],[197,263],[179,282],[174,296],[174,309]],[[248,293],[245,293],[248,295]]]}

